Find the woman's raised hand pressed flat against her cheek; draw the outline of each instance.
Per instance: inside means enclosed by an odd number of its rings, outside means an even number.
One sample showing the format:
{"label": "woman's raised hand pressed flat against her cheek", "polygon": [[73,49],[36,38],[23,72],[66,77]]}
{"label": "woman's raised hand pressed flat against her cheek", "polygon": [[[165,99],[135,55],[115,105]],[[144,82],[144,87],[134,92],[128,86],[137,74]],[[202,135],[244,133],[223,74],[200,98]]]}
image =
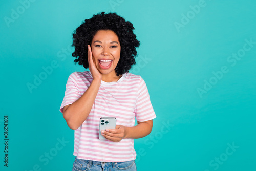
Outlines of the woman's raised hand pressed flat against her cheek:
{"label": "woman's raised hand pressed flat against her cheek", "polygon": [[102,74],[98,71],[98,69],[95,66],[95,63],[93,61],[93,54],[91,46],[88,45],[88,64],[89,64],[89,70],[92,74],[93,79],[99,79],[102,80]]}

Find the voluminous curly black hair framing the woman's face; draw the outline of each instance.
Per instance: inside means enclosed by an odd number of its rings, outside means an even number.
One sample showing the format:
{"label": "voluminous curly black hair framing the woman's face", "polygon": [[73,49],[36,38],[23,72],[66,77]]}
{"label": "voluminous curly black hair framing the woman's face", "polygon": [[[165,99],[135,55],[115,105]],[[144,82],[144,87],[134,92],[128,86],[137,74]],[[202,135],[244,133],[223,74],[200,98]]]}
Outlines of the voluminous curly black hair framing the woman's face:
{"label": "voluminous curly black hair framing the woman's face", "polygon": [[132,68],[135,64],[135,57],[137,56],[136,47],[140,46],[136,35],[133,33],[133,24],[116,13],[101,12],[93,15],[92,18],[84,20],[82,24],[73,33],[73,44],[75,52],[73,57],[78,57],[75,62],[88,68],[87,45],[92,44],[92,39],[99,30],[112,30],[118,36],[121,53],[120,59],[117,63],[115,71],[117,76],[122,75]]}

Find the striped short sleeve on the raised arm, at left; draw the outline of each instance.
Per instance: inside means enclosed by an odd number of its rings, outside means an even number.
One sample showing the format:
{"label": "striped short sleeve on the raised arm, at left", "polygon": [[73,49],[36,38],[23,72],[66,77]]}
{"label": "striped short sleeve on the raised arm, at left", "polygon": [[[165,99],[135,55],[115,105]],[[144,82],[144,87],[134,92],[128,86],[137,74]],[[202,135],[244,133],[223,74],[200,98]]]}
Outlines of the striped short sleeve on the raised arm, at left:
{"label": "striped short sleeve on the raised arm, at left", "polygon": [[61,103],[59,111],[61,113],[63,113],[64,106],[72,104],[73,102],[75,102],[79,98],[80,98],[80,95],[79,95],[79,91],[77,89],[77,75],[74,72],[68,78],[68,81],[67,81],[67,84],[66,84],[65,96],[64,96],[64,99]]}

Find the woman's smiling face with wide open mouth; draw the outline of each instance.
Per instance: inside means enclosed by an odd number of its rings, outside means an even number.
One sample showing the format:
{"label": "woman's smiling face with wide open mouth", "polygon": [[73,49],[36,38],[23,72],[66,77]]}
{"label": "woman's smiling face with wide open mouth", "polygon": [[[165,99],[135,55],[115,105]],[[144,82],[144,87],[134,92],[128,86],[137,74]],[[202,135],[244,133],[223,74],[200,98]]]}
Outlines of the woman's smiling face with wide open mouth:
{"label": "woman's smiling face with wide open mouth", "polygon": [[115,68],[120,59],[121,46],[118,36],[111,30],[99,30],[92,40],[92,55],[101,74],[116,76]]}

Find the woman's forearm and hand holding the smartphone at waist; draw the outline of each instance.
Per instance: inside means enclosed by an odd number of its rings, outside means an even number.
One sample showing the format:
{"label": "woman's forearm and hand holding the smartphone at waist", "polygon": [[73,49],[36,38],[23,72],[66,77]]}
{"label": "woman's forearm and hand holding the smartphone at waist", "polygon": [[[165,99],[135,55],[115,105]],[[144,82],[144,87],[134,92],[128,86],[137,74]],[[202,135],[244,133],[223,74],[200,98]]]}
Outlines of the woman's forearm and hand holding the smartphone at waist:
{"label": "woman's forearm and hand holding the smartphone at waist", "polygon": [[124,138],[142,138],[151,133],[153,127],[152,120],[145,122],[138,121],[137,123],[133,127],[116,125],[116,129],[106,129],[106,131],[101,131],[101,135],[110,141],[119,142]]}

